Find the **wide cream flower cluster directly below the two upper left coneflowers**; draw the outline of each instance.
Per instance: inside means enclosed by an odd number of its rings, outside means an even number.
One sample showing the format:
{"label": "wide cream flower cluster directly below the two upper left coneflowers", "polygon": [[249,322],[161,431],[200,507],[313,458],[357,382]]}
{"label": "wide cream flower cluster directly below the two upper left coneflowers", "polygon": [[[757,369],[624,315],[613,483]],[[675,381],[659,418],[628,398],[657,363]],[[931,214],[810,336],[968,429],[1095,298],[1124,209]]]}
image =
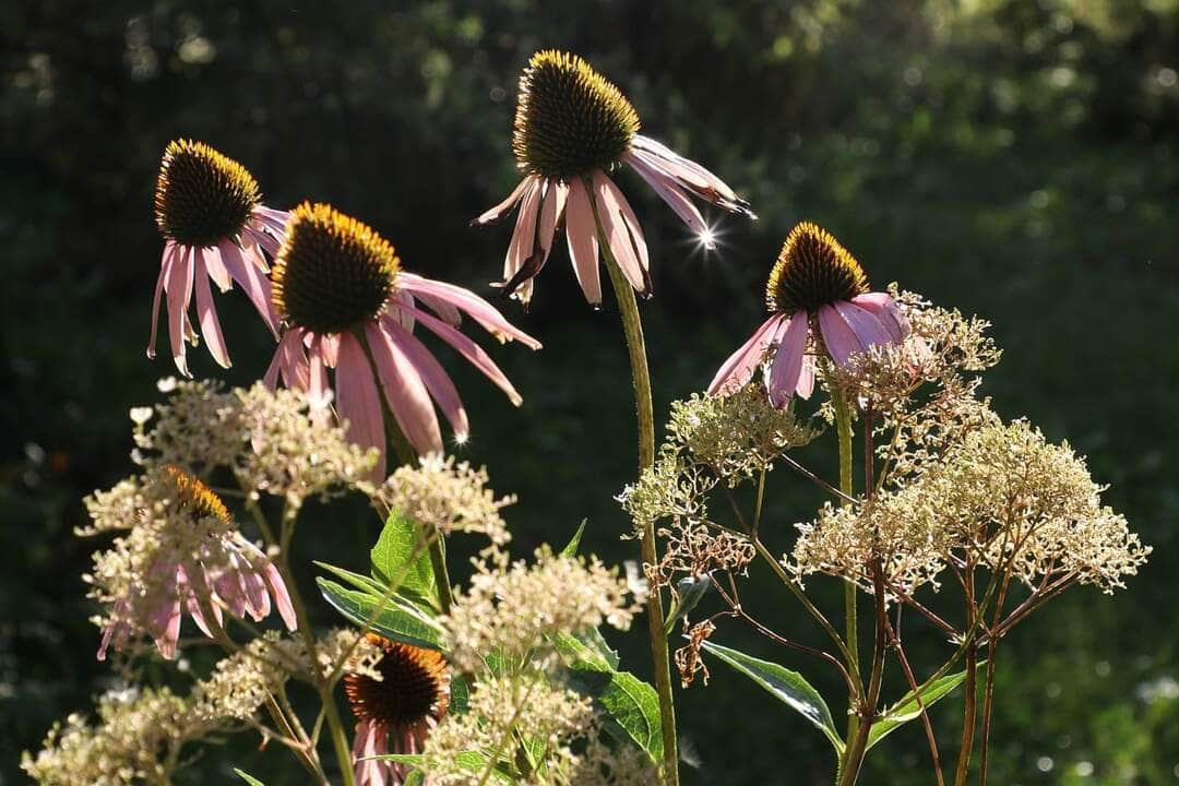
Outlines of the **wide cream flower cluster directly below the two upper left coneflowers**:
{"label": "wide cream flower cluster directly below the two upper left coneflowers", "polygon": [[[253,496],[297,509],[311,496],[368,489],[376,451],[351,444],[343,428],[312,417],[307,396],[262,383],[223,390],[216,382],[164,379],[167,403],[132,410],[137,458],[208,474],[229,468]],[[153,421],[147,428],[149,421]]]}

